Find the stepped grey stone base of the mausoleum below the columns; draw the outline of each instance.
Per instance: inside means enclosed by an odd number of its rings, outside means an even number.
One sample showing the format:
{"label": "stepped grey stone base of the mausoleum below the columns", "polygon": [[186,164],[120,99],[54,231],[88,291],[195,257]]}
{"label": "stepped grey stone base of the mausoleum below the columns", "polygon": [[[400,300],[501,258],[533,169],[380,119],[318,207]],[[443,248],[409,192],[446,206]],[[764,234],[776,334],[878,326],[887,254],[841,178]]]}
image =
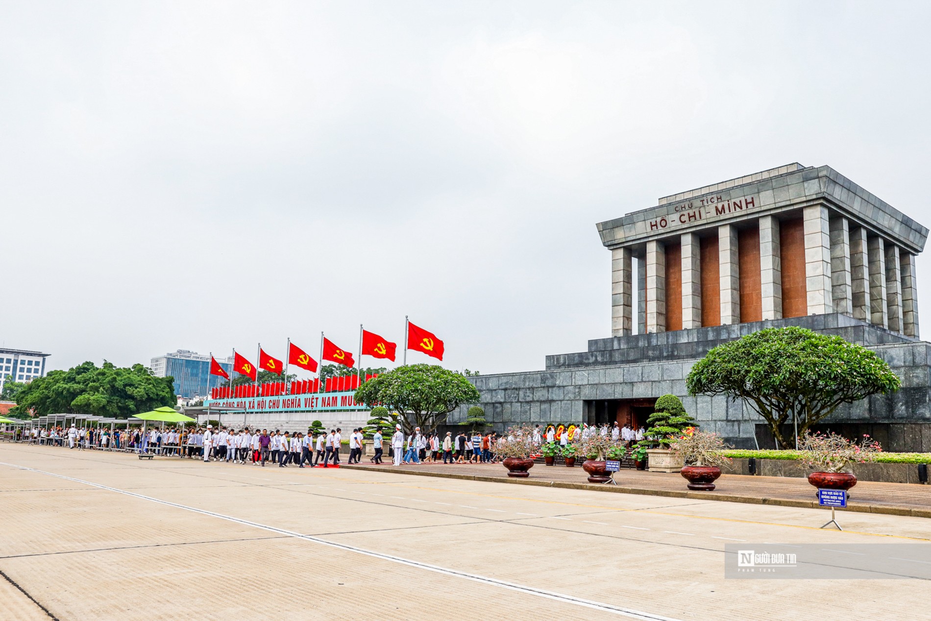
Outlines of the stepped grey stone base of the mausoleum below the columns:
{"label": "stepped grey stone base of the mausoleum below the columns", "polygon": [[[695,416],[703,429],[722,434],[737,447],[753,448],[756,426],[764,423],[762,418],[744,403],[725,397],[689,397],[685,377],[714,344],[762,326],[787,322],[840,333],[852,342],[864,344],[902,379],[902,388],[894,395],[842,406],[826,423],[873,425],[876,429],[894,425],[895,431],[873,434],[879,437],[884,433],[886,450],[931,450],[931,445],[923,448],[924,436],[931,442],[931,344],[837,314],[599,339],[589,342],[591,351],[547,357],[545,371],[479,375],[470,379],[481,394],[479,405],[497,431],[524,423],[581,424],[589,422],[587,401],[657,398],[671,393],[682,399],[686,411]],[[689,333],[696,340],[686,341]],[[652,359],[656,356],[666,359]],[[614,358],[629,359],[605,363]],[[463,407],[453,412],[450,423],[465,420],[466,410]]]}

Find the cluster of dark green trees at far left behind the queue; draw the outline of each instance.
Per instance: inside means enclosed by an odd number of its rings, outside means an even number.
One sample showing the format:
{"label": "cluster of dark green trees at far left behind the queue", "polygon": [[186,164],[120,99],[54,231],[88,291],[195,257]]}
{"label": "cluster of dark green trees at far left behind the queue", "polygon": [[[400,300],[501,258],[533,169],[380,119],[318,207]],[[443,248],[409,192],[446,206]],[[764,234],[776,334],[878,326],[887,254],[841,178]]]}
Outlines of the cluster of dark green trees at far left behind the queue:
{"label": "cluster of dark green trees at far left behind the queue", "polygon": [[128,418],[159,406],[175,405],[173,377],[155,377],[141,364],[129,368],[85,362],[68,371],[49,371],[17,394],[14,412]]}

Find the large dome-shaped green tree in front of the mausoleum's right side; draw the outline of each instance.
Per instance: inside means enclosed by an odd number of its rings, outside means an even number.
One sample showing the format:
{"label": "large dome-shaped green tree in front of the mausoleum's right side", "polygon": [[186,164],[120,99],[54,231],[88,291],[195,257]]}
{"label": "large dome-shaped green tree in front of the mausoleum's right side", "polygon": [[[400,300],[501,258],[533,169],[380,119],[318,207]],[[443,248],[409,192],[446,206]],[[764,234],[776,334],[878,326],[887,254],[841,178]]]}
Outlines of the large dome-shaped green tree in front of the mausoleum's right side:
{"label": "large dome-shaped green tree in front of the mausoleum's right side", "polygon": [[744,399],[783,448],[783,425],[798,417],[799,436],[842,403],[888,394],[896,373],[866,347],[795,326],[767,328],[714,347],[685,379],[690,395]]}

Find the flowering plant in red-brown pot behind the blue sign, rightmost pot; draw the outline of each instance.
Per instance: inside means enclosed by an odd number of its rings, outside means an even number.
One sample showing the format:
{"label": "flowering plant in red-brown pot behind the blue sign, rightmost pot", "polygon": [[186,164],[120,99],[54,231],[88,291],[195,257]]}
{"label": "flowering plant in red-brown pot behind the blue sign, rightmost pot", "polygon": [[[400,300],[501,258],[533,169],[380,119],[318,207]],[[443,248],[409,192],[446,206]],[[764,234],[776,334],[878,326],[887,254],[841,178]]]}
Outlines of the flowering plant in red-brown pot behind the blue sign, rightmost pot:
{"label": "flowering plant in red-brown pot behind the blue sign, rightmost pot", "polygon": [[864,434],[857,444],[833,432],[807,432],[799,440],[802,456],[799,458],[805,466],[815,468],[808,475],[808,482],[816,488],[828,490],[849,490],[857,485],[857,477],[852,471],[855,462],[870,462],[876,453],[882,452],[879,442]]}

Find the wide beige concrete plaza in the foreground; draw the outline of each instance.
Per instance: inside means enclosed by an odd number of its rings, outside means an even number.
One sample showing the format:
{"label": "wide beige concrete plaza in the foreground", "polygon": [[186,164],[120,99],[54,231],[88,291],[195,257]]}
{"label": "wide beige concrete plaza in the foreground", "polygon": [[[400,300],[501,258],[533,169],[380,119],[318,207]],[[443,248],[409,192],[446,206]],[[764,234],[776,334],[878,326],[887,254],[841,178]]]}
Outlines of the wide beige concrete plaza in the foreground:
{"label": "wide beige concrete plaza in the foreground", "polygon": [[838,532],[803,507],[8,443],[0,498],[4,620],[931,610],[924,580],[724,578],[734,542],[931,546],[931,521],[911,516],[841,513]]}

